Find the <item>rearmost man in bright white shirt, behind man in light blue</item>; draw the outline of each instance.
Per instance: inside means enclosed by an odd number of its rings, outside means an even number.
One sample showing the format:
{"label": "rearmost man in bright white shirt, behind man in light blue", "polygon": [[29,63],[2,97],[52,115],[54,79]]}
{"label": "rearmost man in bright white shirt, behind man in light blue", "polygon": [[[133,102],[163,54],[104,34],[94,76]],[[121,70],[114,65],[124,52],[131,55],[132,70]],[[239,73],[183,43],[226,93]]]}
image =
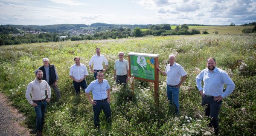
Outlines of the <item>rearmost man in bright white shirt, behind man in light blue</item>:
{"label": "rearmost man in bright white shirt, behind man in light blue", "polygon": [[[93,57],[90,59],[89,62],[89,67],[90,67],[90,71],[94,74],[94,78],[97,79],[97,72],[99,71],[107,71],[108,68],[108,61],[107,59],[100,54],[100,48],[96,48],[96,54],[93,55]],[[105,69],[103,69],[103,62],[105,62]],[[93,64],[93,68],[92,68],[92,64]]]}

